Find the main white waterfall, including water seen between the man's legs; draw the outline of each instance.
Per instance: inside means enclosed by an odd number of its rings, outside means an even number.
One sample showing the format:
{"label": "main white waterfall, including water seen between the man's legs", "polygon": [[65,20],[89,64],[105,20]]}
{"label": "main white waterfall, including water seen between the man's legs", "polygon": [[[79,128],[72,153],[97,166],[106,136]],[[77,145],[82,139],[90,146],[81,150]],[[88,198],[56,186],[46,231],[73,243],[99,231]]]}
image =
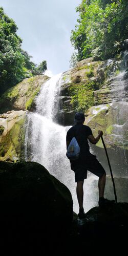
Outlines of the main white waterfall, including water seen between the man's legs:
{"label": "main white waterfall, including water seen between the man's legs", "polygon": [[[41,88],[36,98],[36,113],[29,112],[25,137],[26,161],[35,161],[44,165],[50,174],[64,183],[71,191],[74,211],[78,212],[76,183],[70,162],[66,157],[66,133],[70,126],[56,123],[58,96],[61,86],[61,74],[52,77]],[[89,174],[86,183],[84,209],[87,211],[97,205],[94,193],[94,180]]]}

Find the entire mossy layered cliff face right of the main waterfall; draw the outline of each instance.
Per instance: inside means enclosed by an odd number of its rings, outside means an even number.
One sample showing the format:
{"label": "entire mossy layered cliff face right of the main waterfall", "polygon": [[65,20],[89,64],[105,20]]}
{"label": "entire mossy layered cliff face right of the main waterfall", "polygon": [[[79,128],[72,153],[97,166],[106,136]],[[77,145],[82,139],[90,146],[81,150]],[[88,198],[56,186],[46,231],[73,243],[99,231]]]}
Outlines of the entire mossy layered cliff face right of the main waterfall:
{"label": "entire mossy layered cliff face right of the main waterfall", "polygon": [[[128,163],[127,60],[127,51],[106,61],[89,58],[63,73],[59,112],[61,124],[73,125],[75,112],[82,110],[86,115],[84,124],[91,127],[94,136],[98,130],[103,131],[114,175],[121,177],[126,177]],[[92,151],[107,170],[101,140]]]}

